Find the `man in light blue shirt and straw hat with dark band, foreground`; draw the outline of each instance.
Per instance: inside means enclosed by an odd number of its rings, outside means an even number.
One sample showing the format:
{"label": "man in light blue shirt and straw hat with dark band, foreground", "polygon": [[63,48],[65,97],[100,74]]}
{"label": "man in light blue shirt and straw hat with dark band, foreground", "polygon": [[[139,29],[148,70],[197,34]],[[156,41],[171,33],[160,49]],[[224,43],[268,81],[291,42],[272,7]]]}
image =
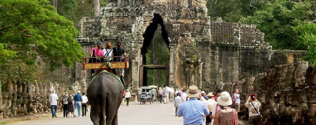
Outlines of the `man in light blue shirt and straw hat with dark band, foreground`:
{"label": "man in light blue shirt and straw hat with dark band, foreground", "polygon": [[183,116],[183,124],[203,124],[204,116],[207,116],[209,111],[202,101],[198,101],[197,97],[200,95],[198,87],[192,85],[187,90],[187,95],[190,97],[189,101],[182,103],[177,111],[178,117]]}

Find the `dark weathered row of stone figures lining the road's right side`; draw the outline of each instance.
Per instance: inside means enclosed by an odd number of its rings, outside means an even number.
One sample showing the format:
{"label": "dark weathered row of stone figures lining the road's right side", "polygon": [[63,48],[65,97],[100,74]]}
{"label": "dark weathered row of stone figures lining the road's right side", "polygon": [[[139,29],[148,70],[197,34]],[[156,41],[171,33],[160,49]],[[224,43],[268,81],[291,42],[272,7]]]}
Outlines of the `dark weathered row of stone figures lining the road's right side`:
{"label": "dark weathered row of stone figures lining the road's right side", "polygon": [[216,86],[241,94],[241,114],[247,117],[244,104],[252,92],[262,104],[264,124],[316,124],[316,68],[308,62],[276,65],[254,77],[223,82]]}

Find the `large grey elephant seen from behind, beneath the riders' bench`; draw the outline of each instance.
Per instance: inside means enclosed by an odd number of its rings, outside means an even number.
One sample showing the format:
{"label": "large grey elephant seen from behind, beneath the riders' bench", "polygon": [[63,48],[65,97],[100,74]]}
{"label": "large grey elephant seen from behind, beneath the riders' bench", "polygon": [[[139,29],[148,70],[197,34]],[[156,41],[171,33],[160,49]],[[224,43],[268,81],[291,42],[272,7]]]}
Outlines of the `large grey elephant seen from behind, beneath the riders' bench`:
{"label": "large grey elephant seen from behind, beneath the riders' bench", "polygon": [[91,81],[87,96],[91,105],[90,119],[94,125],[118,124],[117,113],[123,96],[119,78],[109,72],[101,72]]}

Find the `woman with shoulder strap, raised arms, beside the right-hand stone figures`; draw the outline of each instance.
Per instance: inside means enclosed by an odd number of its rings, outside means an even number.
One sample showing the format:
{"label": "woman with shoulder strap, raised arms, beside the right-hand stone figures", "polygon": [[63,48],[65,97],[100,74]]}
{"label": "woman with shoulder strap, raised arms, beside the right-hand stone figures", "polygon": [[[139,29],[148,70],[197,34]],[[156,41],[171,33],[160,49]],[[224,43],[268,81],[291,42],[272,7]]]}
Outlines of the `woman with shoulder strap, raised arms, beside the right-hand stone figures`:
{"label": "woman with shoulder strap, raised arms, beside the right-hand stone figures", "polygon": [[259,113],[260,106],[261,104],[257,100],[257,95],[255,93],[251,93],[245,104],[245,107],[249,110],[249,124],[259,124],[261,117]]}

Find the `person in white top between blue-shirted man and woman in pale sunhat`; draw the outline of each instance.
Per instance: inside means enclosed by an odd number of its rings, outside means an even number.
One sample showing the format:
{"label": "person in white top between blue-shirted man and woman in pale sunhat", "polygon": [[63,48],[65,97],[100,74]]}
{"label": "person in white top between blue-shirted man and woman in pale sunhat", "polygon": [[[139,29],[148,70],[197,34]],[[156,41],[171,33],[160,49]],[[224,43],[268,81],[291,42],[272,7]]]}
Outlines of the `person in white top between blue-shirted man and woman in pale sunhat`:
{"label": "person in white top between blue-shirted man and woman in pale sunhat", "polygon": [[202,95],[200,97],[200,101],[202,101],[202,102],[204,102],[206,104],[207,109],[209,111],[208,116],[206,116],[206,118],[205,118],[206,119],[205,120],[205,124],[209,125],[210,122],[212,122],[212,119],[210,119],[209,116],[212,115],[213,105],[216,104],[216,102],[215,102],[215,100],[213,98],[214,94],[212,92],[209,92],[206,96],[209,98],[207,101],[206,101],[206,99],[204,97],[202,97]]}

